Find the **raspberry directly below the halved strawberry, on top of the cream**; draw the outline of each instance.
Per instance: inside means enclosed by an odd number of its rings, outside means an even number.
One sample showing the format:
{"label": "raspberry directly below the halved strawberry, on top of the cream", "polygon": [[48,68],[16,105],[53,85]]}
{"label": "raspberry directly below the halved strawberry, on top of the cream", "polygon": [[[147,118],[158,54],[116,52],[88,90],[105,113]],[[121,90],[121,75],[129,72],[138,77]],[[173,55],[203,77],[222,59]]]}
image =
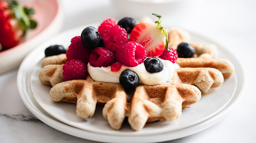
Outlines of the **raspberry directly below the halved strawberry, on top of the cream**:
{"label": "raspberry directly below the halved strawberry, on top of the cream", "polygon": [[128,67],[136,67],[141,64],[147,56],[145,47],[137,42],[129,41],[121,46],[116,53],[117,62]]}

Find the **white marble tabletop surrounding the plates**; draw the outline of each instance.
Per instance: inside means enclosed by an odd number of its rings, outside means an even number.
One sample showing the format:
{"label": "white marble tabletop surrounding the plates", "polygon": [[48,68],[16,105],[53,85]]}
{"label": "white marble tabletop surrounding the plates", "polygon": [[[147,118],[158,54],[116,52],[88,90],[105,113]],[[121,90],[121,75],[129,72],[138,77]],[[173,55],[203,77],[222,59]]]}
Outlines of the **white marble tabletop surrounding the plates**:
{"label": "white marble tabletop surrounding the plates", "polygon": [[[65,14],[63,31],[108,17],[126,16],[118,14],[109,0],[60,2]],[[166,15],[162,22],[197,32],[227,47],[240,59],[246,77],[244,96],[226,118],[197,134],[166,142],[255,141],[255,6],[254,0],[178,0],[162,14]],[[0,74],[0,142],[94,142],[62,133],[32,115],[19,96],[17,70]]]}

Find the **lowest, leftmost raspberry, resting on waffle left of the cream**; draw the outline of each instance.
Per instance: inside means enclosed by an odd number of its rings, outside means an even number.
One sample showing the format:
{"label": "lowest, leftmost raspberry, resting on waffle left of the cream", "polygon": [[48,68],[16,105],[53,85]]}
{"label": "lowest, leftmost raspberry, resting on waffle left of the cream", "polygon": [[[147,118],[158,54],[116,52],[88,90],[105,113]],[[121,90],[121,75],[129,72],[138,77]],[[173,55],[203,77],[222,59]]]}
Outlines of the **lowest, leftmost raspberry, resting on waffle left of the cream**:
{"label": "lowest, leftmost raspberry, resting on waffle left of the cream", "polygon": [[63,76],[66,81],[75,79],[85,79],[88,75],[86,64],[77,59],[71,59],[63,67]]}

